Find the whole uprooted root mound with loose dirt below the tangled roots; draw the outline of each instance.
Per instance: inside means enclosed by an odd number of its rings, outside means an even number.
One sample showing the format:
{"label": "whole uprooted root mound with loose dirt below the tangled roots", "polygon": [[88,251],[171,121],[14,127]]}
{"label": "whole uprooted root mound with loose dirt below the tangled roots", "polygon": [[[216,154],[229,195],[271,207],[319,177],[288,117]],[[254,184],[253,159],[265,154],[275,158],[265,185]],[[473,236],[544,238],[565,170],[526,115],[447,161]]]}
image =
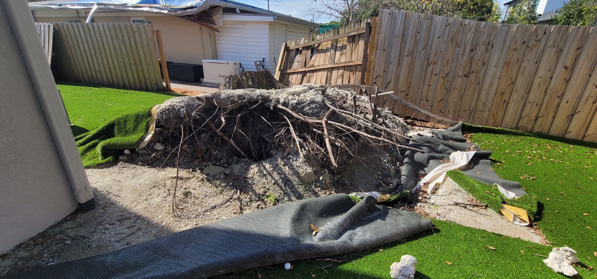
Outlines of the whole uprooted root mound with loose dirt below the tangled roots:
{"label": "whole uprooted root mound with loose dirt below the tangled roots", "polygon": [[245,194],[268,206],[338,192],[393,192],[411,129],[375,107],[355,91],[321,84],[177,97],[156,112],[146,152],[121,159],[201,173],[232,188],[241,204]]}

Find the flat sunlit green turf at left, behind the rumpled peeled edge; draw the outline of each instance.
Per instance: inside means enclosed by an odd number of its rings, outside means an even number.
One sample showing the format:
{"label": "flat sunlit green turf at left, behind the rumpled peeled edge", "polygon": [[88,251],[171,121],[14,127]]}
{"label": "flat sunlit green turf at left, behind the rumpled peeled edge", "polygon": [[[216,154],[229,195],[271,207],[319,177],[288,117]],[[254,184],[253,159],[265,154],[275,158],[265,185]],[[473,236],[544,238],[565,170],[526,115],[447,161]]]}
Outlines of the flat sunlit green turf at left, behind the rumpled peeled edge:
{"label": "flat sunlit green turf at left, behind the rumpled peeled edge", "polygon": [[58,84],[73,135],[94,130],[122,114],[149,109],[173,97],[170,92],[102,87],[97,84]]}

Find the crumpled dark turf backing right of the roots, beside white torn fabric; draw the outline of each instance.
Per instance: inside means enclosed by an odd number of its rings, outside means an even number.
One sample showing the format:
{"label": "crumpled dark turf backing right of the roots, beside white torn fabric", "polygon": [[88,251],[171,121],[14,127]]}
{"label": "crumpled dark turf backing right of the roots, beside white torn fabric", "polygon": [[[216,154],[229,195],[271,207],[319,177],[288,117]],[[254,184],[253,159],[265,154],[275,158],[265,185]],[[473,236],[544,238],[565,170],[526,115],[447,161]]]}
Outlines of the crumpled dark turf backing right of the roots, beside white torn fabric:
{"label": "crumpled dark turf backing right of the roots, beside white torn fabric", "polygon": [[[434,131],[433,137],[414,136],[419,142],[410,142],[408,146],[423,149],[425,153],[408,150],[404,154],[402,163],[401,190],[412,190],[417,186],[420,177],[423,177],[438,165],[450,162],[450,154],[454,151],[477,151],[469,164],[458,170],[472,179],[485,184],[497,183],[504,189],[515,193],[519,197],[526,195],[518,182],[500,179],[491,167],[491,151],[479,151],[479,145],[466,142],[462,135],[462,122],[444,131]],[[419,176],[419,174],[423,176]]]}

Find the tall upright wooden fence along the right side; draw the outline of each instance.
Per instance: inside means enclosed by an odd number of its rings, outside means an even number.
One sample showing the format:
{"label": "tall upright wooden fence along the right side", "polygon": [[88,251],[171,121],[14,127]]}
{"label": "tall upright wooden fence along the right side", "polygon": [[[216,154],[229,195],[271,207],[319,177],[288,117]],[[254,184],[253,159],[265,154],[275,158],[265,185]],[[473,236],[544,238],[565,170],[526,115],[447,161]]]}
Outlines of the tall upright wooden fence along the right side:
{"label": "tall upright wooden fence along the right side", "polygon": [[597,142],[597,27],[393,10],[376,27],[367,85],[450,119]]}

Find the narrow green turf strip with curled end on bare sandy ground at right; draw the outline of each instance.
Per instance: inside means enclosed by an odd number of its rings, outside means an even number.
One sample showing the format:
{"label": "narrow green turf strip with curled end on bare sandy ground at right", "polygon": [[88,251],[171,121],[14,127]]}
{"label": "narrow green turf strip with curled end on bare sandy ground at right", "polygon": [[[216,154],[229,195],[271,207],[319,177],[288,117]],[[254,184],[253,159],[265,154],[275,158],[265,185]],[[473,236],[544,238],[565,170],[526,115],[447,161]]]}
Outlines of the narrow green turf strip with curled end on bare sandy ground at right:
{"label": "narrow green turf strip with curled end on bare sandy ground at right", "polygon": [[537,213],[537,200],[533,198],[533,195],[524,195],[510,200],[504,194],[501,194],[500,190],[496,187],[472,179],[462,171],[451,170],[448,171],[447,175],[466,190],[466,192],[481,203],[487,204],[490,209],[493,209],[497,213],[500,213],[500,206],[503,203],[526,210],[531,219]]}

